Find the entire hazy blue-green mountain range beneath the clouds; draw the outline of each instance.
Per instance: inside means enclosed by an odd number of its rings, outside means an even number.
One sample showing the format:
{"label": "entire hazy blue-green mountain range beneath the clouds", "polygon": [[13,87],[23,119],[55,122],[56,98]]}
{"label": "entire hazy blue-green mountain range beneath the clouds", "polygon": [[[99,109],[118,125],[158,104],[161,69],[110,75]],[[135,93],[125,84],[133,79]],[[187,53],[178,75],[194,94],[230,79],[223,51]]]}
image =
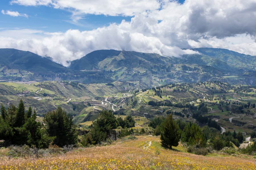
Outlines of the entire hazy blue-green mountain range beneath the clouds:
{"label": "entire hazy blue-green mountain range beneath the clouds", "polygon": [[131,82],[158,86],[173,82],[221,80],[256,85],[256,56],[220,48],[194,48],[179,58],[134,51],[97,50],[69,67],[29,51],[0,49],[0,80]]}

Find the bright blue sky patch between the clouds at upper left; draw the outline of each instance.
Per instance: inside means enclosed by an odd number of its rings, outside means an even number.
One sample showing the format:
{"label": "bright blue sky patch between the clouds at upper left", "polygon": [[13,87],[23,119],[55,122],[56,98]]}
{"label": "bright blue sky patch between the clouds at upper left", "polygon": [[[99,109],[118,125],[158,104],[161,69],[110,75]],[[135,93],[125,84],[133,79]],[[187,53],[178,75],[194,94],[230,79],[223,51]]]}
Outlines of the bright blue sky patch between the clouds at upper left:
{"label": "bright blue sky patch between the clouds at upper left", "polygon": [[[179,0],[184,3],[185,0]],[[67,9],[56,9],[51,6],[24,6],[11,4],[10,0],[0,1],[0,10],[18,11],[27,14],[26,17],[13,17],[0,13],[0,27],[2,29],[41,29],[48,32],[66,31],[68,29],[91,30],[108,26],[111,23],[121,23],[122,20],[131,21],[132,16],[109,16],[84,14],[79,23],[72,23],[72,13]]]}

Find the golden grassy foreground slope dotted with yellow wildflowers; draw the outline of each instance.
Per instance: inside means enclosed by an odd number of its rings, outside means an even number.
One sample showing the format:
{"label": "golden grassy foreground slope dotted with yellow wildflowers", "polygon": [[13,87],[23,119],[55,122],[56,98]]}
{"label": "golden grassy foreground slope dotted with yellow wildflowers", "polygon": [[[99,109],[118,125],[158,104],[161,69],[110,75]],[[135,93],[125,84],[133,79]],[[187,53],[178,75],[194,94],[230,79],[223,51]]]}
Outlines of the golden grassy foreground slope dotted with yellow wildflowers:
{"label": "golden grassy foreground slope dotted with yellow wildflowers", "polygon": [[0,169],[256,169],[252,156],[186,153],[161,146],[159,137],[137,136],[109,146],[79,148],[63,155],[44,158],[0,158]]}

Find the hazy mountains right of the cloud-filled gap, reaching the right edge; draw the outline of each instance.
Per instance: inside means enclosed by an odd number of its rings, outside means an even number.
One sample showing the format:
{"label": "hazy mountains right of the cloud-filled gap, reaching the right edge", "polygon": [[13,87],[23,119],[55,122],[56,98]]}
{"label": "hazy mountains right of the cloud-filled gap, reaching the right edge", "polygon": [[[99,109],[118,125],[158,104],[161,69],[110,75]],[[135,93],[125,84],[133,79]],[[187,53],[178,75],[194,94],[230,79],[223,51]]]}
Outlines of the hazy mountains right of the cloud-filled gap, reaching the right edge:
{"label": "hazy mountains right of the cloud-filled gap, reaching the right edge", "polygon": [[172,82],[218,80],[256,84],[256,57],[217,48],[195,48],[200,54],[180,58],[134,51],[97,50],[71,62],[70,69],[115,71],[112,80],[139,81],[148,86]]}

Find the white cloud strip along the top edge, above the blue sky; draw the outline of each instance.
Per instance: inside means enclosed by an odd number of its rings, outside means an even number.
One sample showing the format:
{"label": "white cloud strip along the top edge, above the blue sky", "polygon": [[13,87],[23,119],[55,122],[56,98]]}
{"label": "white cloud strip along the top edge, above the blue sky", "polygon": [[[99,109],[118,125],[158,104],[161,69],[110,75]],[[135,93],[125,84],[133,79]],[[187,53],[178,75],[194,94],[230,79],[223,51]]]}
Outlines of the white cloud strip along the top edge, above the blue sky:
{"label": "white cloud strip along the top edge, above the blue sky", "polygon": [[46,5],[54,8],[73,9],[74,14],[103,14],[133,16],[146,10],[156,10],[160,3],[156,0],[12,0],[11,4],[26,6]]}

